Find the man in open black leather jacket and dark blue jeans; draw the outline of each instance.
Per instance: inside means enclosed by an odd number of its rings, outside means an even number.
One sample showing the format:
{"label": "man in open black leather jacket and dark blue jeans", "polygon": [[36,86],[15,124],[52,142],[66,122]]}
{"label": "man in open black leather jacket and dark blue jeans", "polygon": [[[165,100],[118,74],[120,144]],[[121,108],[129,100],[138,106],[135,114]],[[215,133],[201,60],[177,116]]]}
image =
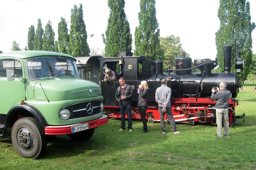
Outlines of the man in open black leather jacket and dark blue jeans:
{"label": "man in open black leather jacket and dark blue jeans", "polygon": [[120,86],[116,89],[115,98],[119,103],[120,114],[121,114],[121,129],[119,131],[125,130],[125,110],[128,118],[128,129],[129,132],[132,132],[132,86],[125,84],[123,77],[119,78]]}

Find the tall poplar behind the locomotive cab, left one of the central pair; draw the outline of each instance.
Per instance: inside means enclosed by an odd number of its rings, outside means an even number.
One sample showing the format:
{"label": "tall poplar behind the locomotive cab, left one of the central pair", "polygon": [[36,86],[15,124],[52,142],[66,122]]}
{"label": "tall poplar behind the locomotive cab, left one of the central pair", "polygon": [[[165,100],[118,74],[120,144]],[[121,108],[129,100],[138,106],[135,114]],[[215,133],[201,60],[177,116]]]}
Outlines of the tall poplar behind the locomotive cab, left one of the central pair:
{"label": "tall poplar behind the locomotive cab, left one of the central pair", "polygon": [[124,4],[124,0],[108,0],[110,14],[106,38],[102,34],[105,55],[108,57],[118,57],[119,51],[132,50],[132,34],[124,12]]}

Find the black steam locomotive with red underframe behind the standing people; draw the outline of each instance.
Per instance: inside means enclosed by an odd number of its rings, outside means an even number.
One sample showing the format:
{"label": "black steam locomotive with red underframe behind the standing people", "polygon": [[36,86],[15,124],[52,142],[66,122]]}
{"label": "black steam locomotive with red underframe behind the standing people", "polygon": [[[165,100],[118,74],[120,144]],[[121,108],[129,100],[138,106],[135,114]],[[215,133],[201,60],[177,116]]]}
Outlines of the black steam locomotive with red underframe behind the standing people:
{"label": "black steam locomotive with red underframe behind the standing people", "polygon": [[[236,58],[236,73],[230,72],[231,67],[231,46],[224,47],[224,72],[212,73],[211,70],[218,65],[218,60],[203,59],[201,62],[194,62],[190,57],[176,58],[175,69],[168,66],[167,73],[164,73],[163,61],[155,60],[149,56],[132,56],[131,52],[120,52],[120,57],[76,57],[77,67],[83,79],[89,79],[100,84],[104,98],[104,112],[111,118],[121,118],[119,104],[115,99],[116,88],[119,81],[104,82],[105,69],[109,68],[116,72],[118,77],[124,77],[125,83],[133,88],[132,118],[140,119],[139,108],[137,107],[139,85],[145,80],[150,89],[146,119],[148,122],[160,121],[158,105],[155,100],[156,88],[161,86],[161,80],[166,78],[168,86],[172,89],[172,113],[175,122],[193,125],[198,123],[216,124],[216,101],[211,100],[212,87],[218,87],[220,82],[227,83],[227,89],[231,92],[229,98],[229,125],[234,126],[237,118],[235,107],[238,100],[235,98],[242,87],[238,83],[238,73],[243,69],[244,61],[238,56]],[[192,73],[192,70],[199,69],[200,73]],[[100,77],[99,77],[100,70]],[[175,73],[173,73],[175,72]],[[99,81],[100,80],[100,81]],[[127,117],[127,115],[125,115]],[[168,122],[167,117],[164,118]]]}

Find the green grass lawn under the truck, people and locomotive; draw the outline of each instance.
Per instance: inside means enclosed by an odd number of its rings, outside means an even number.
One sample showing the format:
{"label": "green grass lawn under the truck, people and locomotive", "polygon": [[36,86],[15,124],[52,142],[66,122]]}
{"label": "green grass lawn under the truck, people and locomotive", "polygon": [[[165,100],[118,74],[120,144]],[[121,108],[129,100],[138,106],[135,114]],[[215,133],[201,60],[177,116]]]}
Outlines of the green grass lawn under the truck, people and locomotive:
{"label": "green grass lawn under the truck, people and locomotive", "polygon": [[[217,126],[177,124],[181,132],[161,133],[160,123],[133,121],[133,132],[119,132],[119,119],[95,129],[87,142],[57,136],[39,159],[16,153],[12,140],[0,137],[0,169],[256,169],[255,85],[244,85],[236,99],[236,115],[245,113],[230,128],[230,137],[214,138]],[[126,121],[127,123],[127,121]]]}

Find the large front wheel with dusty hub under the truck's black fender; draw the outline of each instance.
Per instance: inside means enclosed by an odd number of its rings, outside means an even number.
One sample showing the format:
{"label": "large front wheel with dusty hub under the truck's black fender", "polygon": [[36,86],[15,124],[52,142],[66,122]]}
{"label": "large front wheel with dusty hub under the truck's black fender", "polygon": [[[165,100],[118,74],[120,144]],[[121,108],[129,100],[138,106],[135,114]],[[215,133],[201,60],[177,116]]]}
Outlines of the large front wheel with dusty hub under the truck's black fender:
{"label": "large front wheel with dusty hub under the truck's black fender", "polygon": [[12,127],[12,144],[24,158],[37,158],[46,149],[47,140],[38,130],[36,119],[24,117],[17,120]]}

